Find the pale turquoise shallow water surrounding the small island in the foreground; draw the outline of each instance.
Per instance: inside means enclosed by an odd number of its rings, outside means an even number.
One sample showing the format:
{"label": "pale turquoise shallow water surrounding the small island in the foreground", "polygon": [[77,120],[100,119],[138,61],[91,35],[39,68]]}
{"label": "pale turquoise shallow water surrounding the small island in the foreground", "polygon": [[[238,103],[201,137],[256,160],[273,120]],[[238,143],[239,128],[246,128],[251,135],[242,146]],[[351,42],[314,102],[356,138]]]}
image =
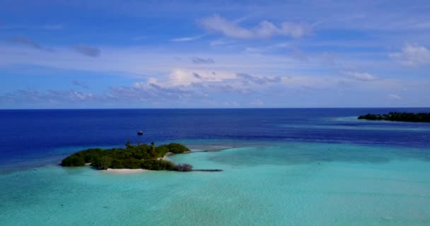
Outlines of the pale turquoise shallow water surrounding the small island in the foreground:
{"label": "pale turquoise shallow water surrounding the small island in the foreground", "polygon": [[223,172],[41,167],[0,175],[0,225],[430,225],[417,151],[276,143],[170,157]]}

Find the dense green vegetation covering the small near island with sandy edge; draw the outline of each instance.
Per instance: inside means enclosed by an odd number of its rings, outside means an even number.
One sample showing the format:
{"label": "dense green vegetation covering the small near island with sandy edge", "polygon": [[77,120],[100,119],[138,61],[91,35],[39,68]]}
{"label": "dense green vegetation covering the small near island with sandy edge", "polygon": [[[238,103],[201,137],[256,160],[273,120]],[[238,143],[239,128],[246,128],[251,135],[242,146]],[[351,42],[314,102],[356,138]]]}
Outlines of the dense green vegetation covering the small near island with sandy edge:
{"label": "dense green vegetation covering the small near island with sandy edge", "polygon": [[156,147],[146,143],[127,142],[125,148],[91,148],[71,154],[62,160],[64,167],[79,167],[91,164],[97,169],[151,169],[192,171],[192,165],[175,165],[173,162],[163,160],[167,153],[187,153],[190,149],[180,143],[169,143]]}

